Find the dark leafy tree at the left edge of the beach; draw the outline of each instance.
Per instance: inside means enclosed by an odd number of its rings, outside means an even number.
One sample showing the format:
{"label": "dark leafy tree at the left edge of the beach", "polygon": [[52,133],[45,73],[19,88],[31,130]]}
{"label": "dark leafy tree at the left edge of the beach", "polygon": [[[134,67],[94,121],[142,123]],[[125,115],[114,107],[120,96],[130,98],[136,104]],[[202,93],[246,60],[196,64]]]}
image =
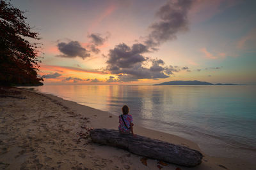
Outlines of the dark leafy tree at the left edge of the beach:
{"label": "dark leafy tree at the left edge of the beach", "polygon": [[0,85],[42,85],[38,43],[28,41],[40,38],[25,20],[24,11],[0,1]]}

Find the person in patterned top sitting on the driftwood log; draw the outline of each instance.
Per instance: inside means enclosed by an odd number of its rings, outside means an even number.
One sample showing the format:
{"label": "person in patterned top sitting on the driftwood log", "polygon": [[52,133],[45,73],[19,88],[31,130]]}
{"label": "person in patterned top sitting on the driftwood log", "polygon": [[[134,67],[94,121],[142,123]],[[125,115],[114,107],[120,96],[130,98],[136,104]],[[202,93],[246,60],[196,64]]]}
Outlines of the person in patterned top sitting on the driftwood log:
{"label": "person in patterned top sitting on the driftwood log", "polygon": [[120,134],[130,134],[132,133],[132,136],[134,136],[133,133],[133,119],[132,115],[128,115],[129,113],[129,108],[128,106],[124,105],[122,108],[123,114],[119,115],[119,132]]}

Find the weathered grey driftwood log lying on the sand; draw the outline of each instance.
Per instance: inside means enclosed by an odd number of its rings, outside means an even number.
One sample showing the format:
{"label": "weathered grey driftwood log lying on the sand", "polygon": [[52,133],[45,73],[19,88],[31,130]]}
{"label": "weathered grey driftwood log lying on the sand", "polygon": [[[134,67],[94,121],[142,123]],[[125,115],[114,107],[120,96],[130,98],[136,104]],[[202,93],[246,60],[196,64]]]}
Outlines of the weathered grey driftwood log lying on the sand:
{"label": "weathered grey driftwood log lying on the sand", "polygon": [[93,129],[92,141],[103,145],[115,146],[136,155],[150,159],[163,160],[180,166],[193,167],[202,162],[202,153],[185,146],[174,145],[157,139],[137,135],[120,134],[113,129]]}

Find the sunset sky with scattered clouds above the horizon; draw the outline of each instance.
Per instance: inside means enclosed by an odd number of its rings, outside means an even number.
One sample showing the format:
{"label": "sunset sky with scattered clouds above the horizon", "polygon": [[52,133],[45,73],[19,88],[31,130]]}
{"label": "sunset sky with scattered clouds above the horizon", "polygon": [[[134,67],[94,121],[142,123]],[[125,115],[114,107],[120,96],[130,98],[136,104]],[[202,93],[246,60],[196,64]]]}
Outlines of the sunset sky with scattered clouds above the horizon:
{"label": "sunset sky with scattered clouds above the horizon", "polygon": [[13,0],[47,85],[256,85],[256,1]]}

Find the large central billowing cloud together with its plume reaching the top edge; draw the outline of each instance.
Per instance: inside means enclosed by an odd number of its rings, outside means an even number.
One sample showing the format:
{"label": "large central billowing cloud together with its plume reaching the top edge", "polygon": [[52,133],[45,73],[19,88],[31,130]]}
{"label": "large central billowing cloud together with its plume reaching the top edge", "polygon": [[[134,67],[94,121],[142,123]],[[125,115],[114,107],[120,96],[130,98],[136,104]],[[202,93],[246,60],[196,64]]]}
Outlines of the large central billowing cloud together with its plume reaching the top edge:
{"label": "large central billowing cloud together with its plume reaching the top edge", "polygon": [[[157,21],[150,25],[150,33],[143,43],[128,46],[125,43],[109,50],[107,70],[118,76],[118,81],[168,78],[179,67],[165,66],[161,59],[149,59],[144,53],[154,52],[165,41],[175,39],[180,31],[188,30],[188,11],[192,0],[168,1],[157,11]],[[145,62],[151,66],[145,67]],[[182,67],[188,70],[188,67]],[[112,81],[111,78],[108,79]]]}

